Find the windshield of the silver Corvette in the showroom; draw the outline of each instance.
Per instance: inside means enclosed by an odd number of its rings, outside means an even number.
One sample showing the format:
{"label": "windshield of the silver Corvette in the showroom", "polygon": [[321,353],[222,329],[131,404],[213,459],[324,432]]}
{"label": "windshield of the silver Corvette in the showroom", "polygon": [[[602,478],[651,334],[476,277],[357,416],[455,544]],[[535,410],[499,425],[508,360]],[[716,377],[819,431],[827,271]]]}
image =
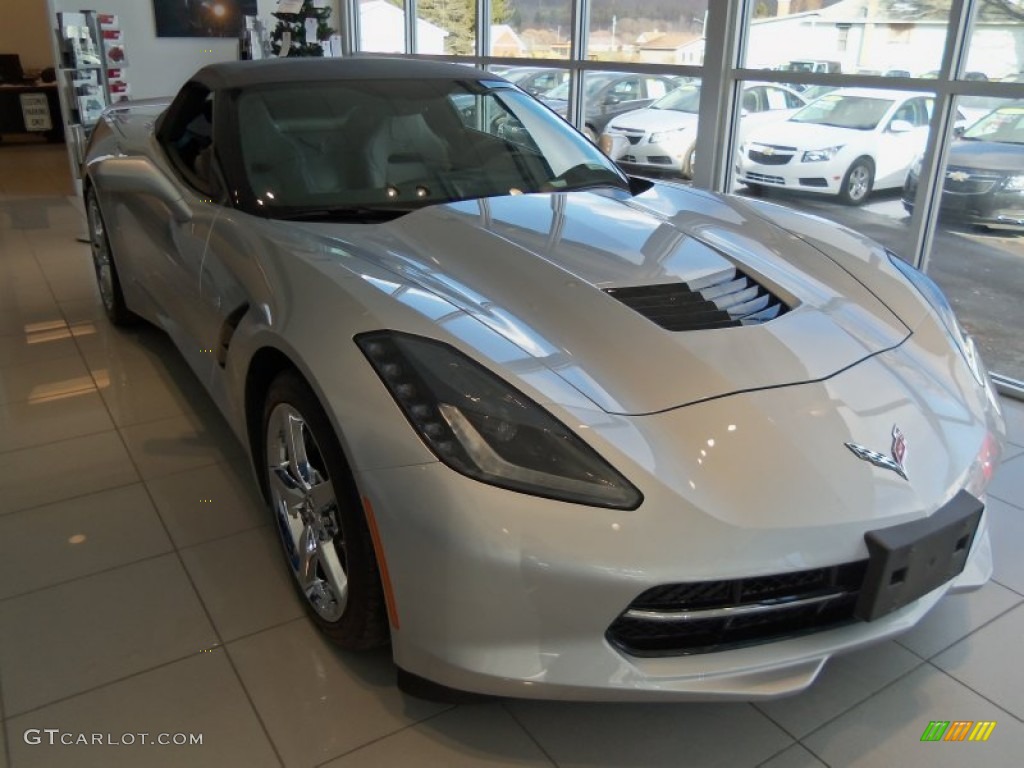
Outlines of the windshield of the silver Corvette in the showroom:
{"label": "windshield of the silver Corvette in the showroom", "polygon": [[272,85],[238,96],[240,172],[274,218],[366,221],[536,191],[629,187],[601,152],[505,83]]}

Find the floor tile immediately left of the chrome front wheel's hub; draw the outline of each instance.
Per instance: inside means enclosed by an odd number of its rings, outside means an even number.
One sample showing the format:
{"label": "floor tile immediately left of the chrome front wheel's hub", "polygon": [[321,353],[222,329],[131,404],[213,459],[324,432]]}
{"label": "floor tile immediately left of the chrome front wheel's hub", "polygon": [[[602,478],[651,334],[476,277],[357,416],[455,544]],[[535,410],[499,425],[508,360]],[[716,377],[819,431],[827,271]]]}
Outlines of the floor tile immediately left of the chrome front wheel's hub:
{"label": "floor tile immediately left of the chrome front wheel's hub", "polygon": [[246,460],[155,477],[145,484],[179,548],[266,525],[271,519]]}

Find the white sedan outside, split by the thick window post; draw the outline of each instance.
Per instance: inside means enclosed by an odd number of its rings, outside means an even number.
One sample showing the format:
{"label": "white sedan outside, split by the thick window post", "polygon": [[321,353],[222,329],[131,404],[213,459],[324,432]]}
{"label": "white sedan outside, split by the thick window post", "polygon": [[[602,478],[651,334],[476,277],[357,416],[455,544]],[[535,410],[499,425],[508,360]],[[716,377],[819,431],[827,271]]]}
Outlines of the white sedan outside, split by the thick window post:
{"label": "white sedan outside, split by the thick window post", "polygon": [[[807,100],[791,88],[751,83],[743,88],[740,141],[746,131],[784,120]],[[693,175],[700,85],[684,85],[645,110],[634,110],[608,123],[601,136],[604,153],[629,170],[671,171]]]}

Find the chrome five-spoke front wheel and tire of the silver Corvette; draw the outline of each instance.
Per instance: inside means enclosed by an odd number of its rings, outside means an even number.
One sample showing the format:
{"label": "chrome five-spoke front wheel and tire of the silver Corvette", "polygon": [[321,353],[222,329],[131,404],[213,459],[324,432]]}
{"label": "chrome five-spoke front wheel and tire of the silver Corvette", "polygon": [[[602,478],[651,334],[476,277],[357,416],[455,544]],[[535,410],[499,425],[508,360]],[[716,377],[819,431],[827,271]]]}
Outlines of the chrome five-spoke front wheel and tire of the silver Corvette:
{"label": "chrome five-spoke front wheel and tire of the silver Corvette", "polygon": [[295,371],[270,384],[262,424],[260,481],[303,604],[342,648],[385,645],[387,606],[359,494],[327,414]]}

